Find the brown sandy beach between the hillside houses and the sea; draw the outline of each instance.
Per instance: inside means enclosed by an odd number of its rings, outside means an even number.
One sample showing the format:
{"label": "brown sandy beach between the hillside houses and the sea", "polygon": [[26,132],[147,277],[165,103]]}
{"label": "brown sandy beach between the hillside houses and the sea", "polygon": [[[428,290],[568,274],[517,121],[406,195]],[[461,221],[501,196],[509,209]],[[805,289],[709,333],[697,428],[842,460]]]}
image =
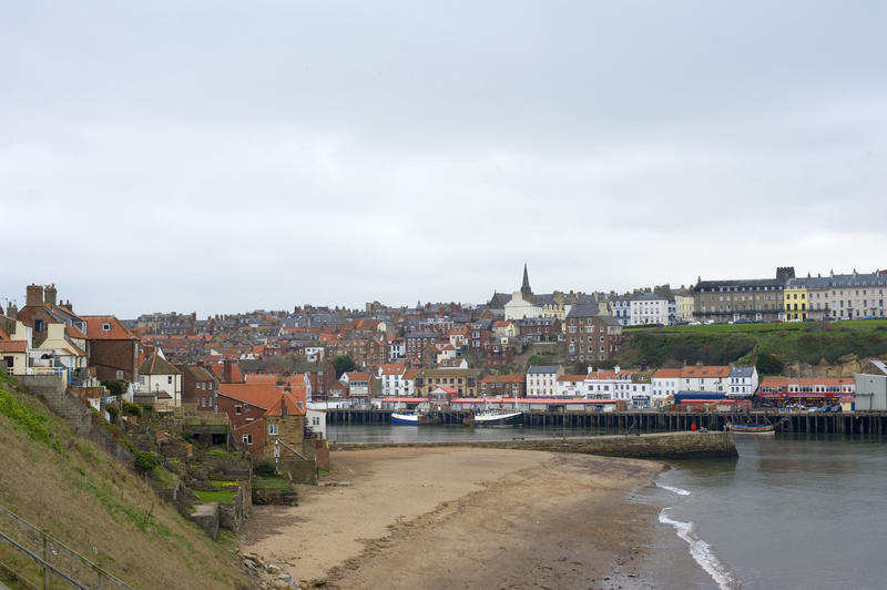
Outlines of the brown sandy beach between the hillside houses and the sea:
{"label": "brown sandy beach between the hillside houses and the sea", "polygon": [[333,455],[297,507],[254,507],[244,552],[338,588],[710,588],[659,507],[661,464],[478,448]]}

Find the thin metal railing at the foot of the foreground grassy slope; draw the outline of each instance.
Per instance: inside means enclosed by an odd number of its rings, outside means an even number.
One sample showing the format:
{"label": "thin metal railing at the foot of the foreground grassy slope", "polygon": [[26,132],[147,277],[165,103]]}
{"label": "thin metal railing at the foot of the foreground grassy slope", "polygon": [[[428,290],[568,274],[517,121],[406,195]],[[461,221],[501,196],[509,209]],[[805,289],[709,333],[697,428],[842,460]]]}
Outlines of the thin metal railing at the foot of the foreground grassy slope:
{"label": "thin metal railing at the foot of the foreground grassy slope", "polygon": [[[0,562],[0,568],[14,574],[20,586],[49,590],[61,583],[62,587],[83,590],[130,590],[124,582],[73,549],[0,506],[0,547],[2,545],[13,548],[24,558]],[[95,582],[85,582],[88,579]]]}

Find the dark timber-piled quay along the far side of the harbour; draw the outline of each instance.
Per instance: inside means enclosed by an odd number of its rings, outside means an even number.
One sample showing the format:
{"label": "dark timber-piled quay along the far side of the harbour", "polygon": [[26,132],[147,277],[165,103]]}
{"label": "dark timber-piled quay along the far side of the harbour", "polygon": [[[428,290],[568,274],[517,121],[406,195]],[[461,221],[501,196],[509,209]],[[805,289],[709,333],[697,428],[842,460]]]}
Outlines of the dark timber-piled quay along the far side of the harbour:
{"label": "dark timber-piled quay along the far side of the harbour", "polygon": [[[329,409],[330,425],[384,425],[391,423],[390,409]],[[465,410],[437,411],[441,424],[461,425],[470,413]],[[523,414],[523,426],[595,428],[612,434],[676,433],[697,429],[724,430],[727,423],[773,424],[779,433],[814,435],[863,435],[887,434],[887,411],[840,413],[781,413],[777,410],[753,410],[747,414],[691,413],[691,411],[540,411]]]}

